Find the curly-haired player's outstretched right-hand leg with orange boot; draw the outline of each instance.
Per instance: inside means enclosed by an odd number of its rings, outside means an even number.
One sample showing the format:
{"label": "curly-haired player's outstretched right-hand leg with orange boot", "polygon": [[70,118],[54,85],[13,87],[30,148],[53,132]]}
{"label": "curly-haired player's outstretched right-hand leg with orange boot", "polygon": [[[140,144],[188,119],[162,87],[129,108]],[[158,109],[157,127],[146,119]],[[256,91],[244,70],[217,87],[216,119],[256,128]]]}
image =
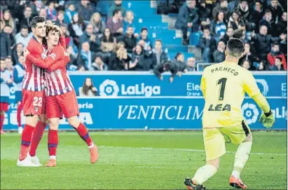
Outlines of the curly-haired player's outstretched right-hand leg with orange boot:
{"label": "curly-haired player's outstretched right-hand leg with orange boot", "polygon": [[91,163],[95,163],[99,156],[98,147],[93,143],[86,126],[78,119],[79,109],[75,91],[70,91],[63,95],[57,95],[56,97],[68,123],[77,131],[78,135],[88,145]]}

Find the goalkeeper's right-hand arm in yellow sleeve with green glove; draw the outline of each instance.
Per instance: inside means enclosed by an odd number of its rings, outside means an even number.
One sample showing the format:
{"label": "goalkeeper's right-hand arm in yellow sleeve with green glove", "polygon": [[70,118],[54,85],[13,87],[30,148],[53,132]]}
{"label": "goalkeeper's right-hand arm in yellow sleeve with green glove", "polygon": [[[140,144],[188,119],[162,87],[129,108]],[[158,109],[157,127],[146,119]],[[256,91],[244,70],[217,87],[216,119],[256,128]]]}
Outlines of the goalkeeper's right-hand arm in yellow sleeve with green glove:
{"label": "goalkeeper's right-hand arm in yellow sleeve with green glove", "polygon": [[270,105],[268,104],[266,97],[261,94],[252,72],[247,72],[243,81],[243,88],[249,97],[252,97],[263,111],[260,117],[260,123],[263,123],[266,128],[271,128],[275,122],[275,118],[270,110]]}

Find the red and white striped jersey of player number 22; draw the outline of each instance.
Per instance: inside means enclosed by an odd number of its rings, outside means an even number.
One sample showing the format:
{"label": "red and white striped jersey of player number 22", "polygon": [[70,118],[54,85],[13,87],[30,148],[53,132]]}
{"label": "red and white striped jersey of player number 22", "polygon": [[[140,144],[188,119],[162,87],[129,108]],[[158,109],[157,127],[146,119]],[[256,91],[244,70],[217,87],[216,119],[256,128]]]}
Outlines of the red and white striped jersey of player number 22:
{"label": "red and white striped jersey of player number 22", "polygon": [[[39,43],[33,36],[30,39],[27,50],[31,55],[37,58],[45,59],[47,50],[43,48],[42,44]],[[44,69],[33,64],[29,60],[25,60],[25,76],[23,79],[22,88],[31,91],[42,91],[44,90]]]}

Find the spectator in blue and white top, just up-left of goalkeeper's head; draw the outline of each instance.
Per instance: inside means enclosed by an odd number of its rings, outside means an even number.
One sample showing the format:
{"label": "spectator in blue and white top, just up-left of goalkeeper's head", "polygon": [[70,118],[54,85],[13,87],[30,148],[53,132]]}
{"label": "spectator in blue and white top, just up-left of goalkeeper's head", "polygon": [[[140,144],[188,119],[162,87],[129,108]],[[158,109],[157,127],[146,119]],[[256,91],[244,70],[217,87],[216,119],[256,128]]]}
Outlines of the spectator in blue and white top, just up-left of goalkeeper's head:
{"label": "spectator in blue and white top, just up-left of goalkeeper's head", "polygon": [[226,33],[226,23],[224,22],[224,12],[219,11],[217,17],[212,20],[210,25],[210,32],[215,37],[221,39]]}

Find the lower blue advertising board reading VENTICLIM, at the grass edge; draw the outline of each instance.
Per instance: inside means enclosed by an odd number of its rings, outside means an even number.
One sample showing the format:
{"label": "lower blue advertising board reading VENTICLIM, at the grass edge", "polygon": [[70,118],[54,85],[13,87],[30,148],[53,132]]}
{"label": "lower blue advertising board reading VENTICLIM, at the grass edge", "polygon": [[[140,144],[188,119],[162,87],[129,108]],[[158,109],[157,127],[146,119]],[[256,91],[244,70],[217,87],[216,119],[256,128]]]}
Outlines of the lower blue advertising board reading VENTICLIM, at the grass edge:
{"label": "lower blue advertising board reading VENTICLIM, at the grass edge", "polygon": [[[287,99],[268,98],[275,114],[274,129],[287,129]],[[204,99],[200,98],[102,98],[78,99],[80,120],[90,129],[201,129]],[[261,109],[245,99],[242,113],[252,129],[264,129],[258,122]],[[6,114],[5,129],[17,129],[16,107]],[[22,123],[25,117],[22,116]],[[9,125],[6,125],[9,124]],[[60,129],[71,129],[64,118]]]}

